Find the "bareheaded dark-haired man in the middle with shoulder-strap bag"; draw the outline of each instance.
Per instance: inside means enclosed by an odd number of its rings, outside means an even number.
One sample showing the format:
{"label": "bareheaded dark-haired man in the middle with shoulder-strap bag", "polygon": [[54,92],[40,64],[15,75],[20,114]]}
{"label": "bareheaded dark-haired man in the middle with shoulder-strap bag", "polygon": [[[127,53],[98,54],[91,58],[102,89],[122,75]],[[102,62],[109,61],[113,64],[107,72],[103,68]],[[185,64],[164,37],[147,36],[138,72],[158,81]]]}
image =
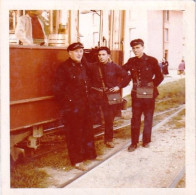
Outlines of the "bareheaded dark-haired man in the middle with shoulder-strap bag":
{"label": "bareheaded dark-haired man in the middle with shoulder-strap bag", "polygon": [[125,87],[130,79],[121,66],[111,61],[108,47],[98,49],[98,59],[99,62],[91,64],[89,67],[92,106],[95,104],[101,106],[105,121],[104,142],[107,147],[113,148],[113,121],[121,105],[109,105],[106,94],[102,94],[100,91],[117,92]]}

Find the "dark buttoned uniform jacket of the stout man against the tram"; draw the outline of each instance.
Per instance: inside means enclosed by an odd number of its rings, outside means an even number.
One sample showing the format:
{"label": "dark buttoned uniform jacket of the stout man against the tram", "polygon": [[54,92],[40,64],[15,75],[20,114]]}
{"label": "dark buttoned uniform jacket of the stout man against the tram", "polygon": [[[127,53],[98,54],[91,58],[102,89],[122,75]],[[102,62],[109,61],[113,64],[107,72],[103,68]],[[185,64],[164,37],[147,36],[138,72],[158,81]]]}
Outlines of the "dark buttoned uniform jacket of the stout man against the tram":
{"label": "dark buttoned uniform jacket of the stout man against the tram", "polygon": [[71,58],[57,68],[53,91],[61,108],[82,109],[88,103],[89,81],[86,63],[75,63]]}

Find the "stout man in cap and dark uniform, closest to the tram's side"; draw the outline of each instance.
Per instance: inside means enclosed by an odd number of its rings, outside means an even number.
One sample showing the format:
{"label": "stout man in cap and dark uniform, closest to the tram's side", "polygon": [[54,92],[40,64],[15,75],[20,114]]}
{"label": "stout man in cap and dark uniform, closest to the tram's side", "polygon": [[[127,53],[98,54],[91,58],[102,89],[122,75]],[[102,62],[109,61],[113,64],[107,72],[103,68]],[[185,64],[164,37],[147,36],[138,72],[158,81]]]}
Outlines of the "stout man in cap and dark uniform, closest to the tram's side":
{"label": "stout man in cap and dark uniform, closest to the tram's side", "polygon": [[70,161],[81,170],[85,170],[84,160],[96,158],[83,48],[80,42],[68,46],[69,59],[58,67],[54,82],[54,94],[66,130]]}

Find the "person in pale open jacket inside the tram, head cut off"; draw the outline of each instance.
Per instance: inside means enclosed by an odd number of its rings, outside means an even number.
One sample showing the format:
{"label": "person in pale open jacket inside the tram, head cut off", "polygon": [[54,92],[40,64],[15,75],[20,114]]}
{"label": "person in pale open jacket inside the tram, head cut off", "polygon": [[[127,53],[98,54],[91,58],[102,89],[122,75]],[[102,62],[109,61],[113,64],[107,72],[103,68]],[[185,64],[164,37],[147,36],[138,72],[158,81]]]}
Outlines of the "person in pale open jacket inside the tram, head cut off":
{"label": "person in pale open jacket inside the tram, head cut off", "polygon": [[41,10],[28,10],[18,18],[15,35],[21,45],[47,45],[44,24],[40,19]]}

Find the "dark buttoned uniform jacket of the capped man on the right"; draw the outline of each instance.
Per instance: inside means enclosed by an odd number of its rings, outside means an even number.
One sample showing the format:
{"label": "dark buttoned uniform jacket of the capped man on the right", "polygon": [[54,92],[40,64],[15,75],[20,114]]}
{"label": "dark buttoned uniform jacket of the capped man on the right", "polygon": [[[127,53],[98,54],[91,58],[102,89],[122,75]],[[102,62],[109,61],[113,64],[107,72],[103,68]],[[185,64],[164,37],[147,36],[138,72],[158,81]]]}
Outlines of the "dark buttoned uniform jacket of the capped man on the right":
{"label": "dark buttoned uniform jacket of the capped man on the right", "polygon": [[136,83],[139,81],[142,86],[153,82],[154,97],[158,95],[157,86],[163,81],[158,61],[156,58],[143,54],[141,58],[133,57],[123,66],[129,72],[133,80],[132,96],[135,97]]}

